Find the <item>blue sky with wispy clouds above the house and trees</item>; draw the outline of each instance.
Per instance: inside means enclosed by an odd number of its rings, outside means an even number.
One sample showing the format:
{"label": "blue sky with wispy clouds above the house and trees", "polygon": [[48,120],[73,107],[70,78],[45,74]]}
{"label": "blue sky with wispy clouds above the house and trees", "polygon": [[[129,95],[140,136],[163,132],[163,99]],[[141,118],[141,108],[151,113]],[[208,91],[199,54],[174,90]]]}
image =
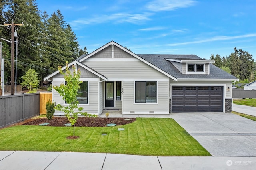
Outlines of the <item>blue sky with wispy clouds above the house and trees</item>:
{"label": "blue sky with wispy clouds above the house and trees", "polygon": [[37,0],[60,10],[92,52],[114,40],[136,54],[222,57],[234,47],[256,60],[256,0]]}

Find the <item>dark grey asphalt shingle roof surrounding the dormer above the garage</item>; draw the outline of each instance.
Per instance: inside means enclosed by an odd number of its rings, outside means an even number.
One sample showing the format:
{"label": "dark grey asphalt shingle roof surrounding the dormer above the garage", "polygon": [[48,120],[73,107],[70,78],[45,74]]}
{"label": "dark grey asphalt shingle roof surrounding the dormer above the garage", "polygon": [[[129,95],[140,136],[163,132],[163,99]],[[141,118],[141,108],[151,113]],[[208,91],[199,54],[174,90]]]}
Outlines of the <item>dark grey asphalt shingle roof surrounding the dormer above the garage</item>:
{"label": "dark grey asphalt shingle roof surrounding the dormer above the garage", "polygon": [[215,65],[210,64],[210,74],[182,74],[176,67],[166,59],[191,59],[191,60],[203,60],[197,55],[159,55],[159,54],[137,54],[142,59],[150,62],[156,67],[162,69],[166,73],[172,75],[177,79],[237,79],[235,76],[223,71],[222,69],[216,67]]}

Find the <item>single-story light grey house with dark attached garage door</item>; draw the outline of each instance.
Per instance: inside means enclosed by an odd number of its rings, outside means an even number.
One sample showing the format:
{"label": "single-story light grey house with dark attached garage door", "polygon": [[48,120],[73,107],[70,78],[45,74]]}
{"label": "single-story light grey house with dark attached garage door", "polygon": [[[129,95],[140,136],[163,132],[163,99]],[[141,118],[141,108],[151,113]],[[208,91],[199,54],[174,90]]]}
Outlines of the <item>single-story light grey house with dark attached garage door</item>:
{"label": "single-story light grey house with dark attached garage door", "polygon": [[[232,81],[238,79],[211,63],[196,55],[135,54],[111,41],[68,67],[81,71],[79,107],[90,114],[104,109],[122,109],[122,114],[230,112]],[[44,80],[64,83],[59,71]],[[55,90],[52,99],[66,105]]]}

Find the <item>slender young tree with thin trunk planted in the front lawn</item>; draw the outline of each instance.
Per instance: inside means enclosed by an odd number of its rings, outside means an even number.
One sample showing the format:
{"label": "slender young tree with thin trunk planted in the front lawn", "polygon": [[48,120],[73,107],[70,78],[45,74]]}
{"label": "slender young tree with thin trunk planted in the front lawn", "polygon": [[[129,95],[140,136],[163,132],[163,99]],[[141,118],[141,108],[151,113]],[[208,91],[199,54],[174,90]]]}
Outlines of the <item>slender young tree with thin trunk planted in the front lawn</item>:
{"label": "slender young tree with thin trunk planted in the front lawn", "polygon": [[[62,106],[60,104],[56,105],[56,110],[63,111],[65,113],[65,116],[70,121],[71,125],[73,125],[73,136],[75,136],[75,123],[78,119],[78,114],[81,113],[82,107],[78,108],[78,100],[76,98],[77,91],[80,89],[80,84],[82,81],[80,81],[80,70],[78,69],[76,71],[75,66],[72,66],[73,73],[69,70],[68,62],[66,62],[66,72],[62,70],[62,67],[58,67],[60,74],[64,76],[64,79],[66,81],[65,84],[61,84],[60,86],[53,86],[53,89],[55,89],[61,96],[62,99],[68,104],[68,106]],[[75,110],[78,109],[78,112]]]}

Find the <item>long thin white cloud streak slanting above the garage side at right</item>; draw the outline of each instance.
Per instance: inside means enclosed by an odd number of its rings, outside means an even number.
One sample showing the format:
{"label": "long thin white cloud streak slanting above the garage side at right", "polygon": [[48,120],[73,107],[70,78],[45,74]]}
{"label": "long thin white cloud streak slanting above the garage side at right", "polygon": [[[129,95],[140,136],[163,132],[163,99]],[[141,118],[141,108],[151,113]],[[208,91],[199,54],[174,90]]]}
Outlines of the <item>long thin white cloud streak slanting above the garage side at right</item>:
{"label": "long thin white cloud streak slanting above the garage side at right", "polygon": [[233,39],[237,39],[237,38],[248,38],[248,37],[256,37],[256,34],[245,34],[245,35],[240,35],[240,36],[215,36],[215,37],[207,38],[204,40],[196,40],[196,41],[191,41],[191,42],[168,44],[168,46],[197,44],[197,43],[213,42],[213,41],[221,41],[221,40],[233,40]]}

